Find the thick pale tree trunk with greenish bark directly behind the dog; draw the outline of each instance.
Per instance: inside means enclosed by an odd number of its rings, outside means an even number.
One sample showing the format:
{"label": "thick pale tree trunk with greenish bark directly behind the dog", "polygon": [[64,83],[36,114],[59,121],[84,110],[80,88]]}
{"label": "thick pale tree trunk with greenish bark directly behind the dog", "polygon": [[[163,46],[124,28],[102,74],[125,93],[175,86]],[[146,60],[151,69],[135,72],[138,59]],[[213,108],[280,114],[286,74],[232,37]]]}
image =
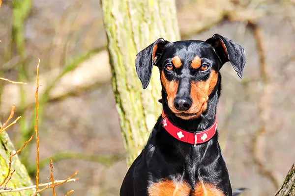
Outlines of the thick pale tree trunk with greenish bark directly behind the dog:
{"label": "thick pale tree trunk with greenish bark directly behind the dog", "polygon": [[159,37],[179,39],[174,0],[101,0],[122,136],[130,164],[161,113],[159,72],[143,91],[135,55]]}

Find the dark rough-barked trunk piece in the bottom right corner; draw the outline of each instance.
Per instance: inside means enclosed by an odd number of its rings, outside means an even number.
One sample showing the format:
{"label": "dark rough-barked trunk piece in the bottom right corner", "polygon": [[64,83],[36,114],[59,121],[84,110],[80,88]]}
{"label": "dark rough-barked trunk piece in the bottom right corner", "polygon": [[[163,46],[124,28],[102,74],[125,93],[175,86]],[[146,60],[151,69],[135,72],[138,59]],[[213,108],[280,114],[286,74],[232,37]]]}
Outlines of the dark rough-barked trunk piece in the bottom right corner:
{"label": "dark rough-barked trunk piece in the bottom right corner", "polygon": [[295,196],[295,163],[291,167],[283,185],[275,196]]}

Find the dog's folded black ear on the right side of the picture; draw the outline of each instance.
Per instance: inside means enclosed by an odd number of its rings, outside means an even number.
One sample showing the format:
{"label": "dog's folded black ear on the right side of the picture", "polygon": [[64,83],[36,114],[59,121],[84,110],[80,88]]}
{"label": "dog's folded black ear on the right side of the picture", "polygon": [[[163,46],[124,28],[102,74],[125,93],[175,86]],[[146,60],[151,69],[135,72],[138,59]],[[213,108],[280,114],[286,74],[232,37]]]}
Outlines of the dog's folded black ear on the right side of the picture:
{"label": "dog's folded black ear on the right side of the picture", "polygon": [[237,75],[242,78],[243,69],[246,64],[246,52],[243,47],[218,34],[214,34],[206,42],[213,46],[221,64],[223,65],[230,61]]}

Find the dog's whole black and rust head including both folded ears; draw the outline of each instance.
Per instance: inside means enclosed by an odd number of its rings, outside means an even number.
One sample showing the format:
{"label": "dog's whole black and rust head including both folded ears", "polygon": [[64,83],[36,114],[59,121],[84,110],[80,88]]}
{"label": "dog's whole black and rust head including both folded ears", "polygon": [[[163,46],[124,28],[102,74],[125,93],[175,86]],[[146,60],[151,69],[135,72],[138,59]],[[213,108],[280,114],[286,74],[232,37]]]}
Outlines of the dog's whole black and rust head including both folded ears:
{"label": "dog's whole black and rust head including both folded ears", "polygon": [[184,120],[198,118],[215,92],[219,70],[231,62],[238,76],[245,66],[245,50],[215,34],[204,41],[168,42],[159,38],[136,55],[136,72],[146,89],[153,65],[160,70],[163,101]]}

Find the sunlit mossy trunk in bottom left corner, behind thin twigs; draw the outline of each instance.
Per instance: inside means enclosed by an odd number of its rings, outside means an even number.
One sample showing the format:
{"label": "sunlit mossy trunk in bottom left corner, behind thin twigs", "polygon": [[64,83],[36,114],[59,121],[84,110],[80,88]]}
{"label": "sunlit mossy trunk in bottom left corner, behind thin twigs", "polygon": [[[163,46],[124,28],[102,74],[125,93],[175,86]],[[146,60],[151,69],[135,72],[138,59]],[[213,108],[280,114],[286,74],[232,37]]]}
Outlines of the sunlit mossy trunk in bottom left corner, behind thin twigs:
{"label": "sunlit mossy trunk in bottom left corner, behind thin twigs", "polygon": [[[0,134],[0,183],[8,173],[10,152],[14,153],[15,149],[8,134],[4,131]],[[6,186],[7,188],[16,189],[33,185],[25,166],[20,162],[18,155],[12,157],[11,170],[15,170],[15,172],[9,180]],[[34,191],[34,189],[31,189],[22,192],[2,193],[0,196],[31,196]]]}

